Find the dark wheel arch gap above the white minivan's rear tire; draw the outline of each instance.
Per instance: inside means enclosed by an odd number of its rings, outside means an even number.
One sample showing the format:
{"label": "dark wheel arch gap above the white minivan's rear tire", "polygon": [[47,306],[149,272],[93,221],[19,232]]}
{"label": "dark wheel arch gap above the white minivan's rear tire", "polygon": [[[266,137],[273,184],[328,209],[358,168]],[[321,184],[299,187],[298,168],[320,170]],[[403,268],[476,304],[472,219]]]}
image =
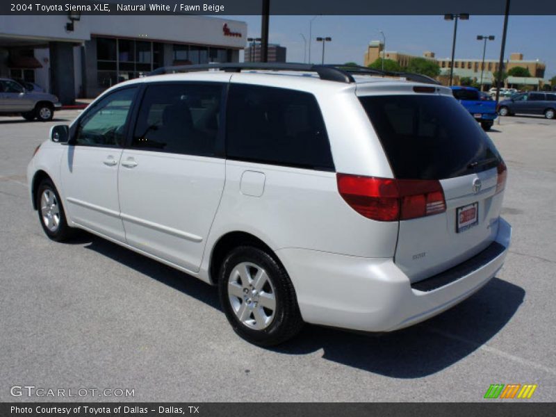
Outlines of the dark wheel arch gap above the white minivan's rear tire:
{"label": "dark wheel arch gap above the white minivan's rear tire", "polygon": [[264,250],[270,256],[272,256],[282,268],[285,269],[284,264],[280,261],[279,257],[274,250],[265,243],[261,238],[254,236],[246,231],[229,231],[226,234],[220,236],[216,241],[211,250],[211,256],[208,263],[208,278],[211,284],[218,283],[218,272],[220,271],[220,265],[224,261],[225,256],[238,246],[252,246],[257,247],[260,250]]}

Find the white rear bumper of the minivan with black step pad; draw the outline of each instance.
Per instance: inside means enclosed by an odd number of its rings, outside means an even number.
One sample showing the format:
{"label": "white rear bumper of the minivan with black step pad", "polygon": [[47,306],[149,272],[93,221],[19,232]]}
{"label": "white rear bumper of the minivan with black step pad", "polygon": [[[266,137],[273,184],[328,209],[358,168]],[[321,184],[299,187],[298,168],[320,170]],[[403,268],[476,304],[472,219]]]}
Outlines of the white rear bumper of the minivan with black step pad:
{"label": "white rear bumper of the minivan with black step pad", "polygon": [[306,322],[364,332],[389,332],[436,316],[494,277],[505,261],[512,236],[512,227],[502,218],[499,222],[496,248],[491,247],[496,252],[484,254],[483,258],[479,254],[475,261],[472,258],[439,274],[443,277],[430,278],[436,282],[428,287],[424,284],[412,287],[392,259],[302,249],[279,250],[277,255],[291,276]]}

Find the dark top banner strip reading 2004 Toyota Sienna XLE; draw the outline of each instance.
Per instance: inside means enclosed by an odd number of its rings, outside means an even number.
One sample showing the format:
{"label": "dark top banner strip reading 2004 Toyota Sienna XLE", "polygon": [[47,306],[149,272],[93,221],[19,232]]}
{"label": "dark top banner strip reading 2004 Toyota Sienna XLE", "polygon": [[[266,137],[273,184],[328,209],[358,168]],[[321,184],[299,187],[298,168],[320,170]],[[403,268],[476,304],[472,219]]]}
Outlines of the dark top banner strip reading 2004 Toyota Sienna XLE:
{"label": "dark top banner strip reading 2004 Toyota Sienna XLE", "polygon": [[[556,15],[555,0],[270,0],[271,15]],[[1,0],[0,15],[261,15],[263,0]]]}

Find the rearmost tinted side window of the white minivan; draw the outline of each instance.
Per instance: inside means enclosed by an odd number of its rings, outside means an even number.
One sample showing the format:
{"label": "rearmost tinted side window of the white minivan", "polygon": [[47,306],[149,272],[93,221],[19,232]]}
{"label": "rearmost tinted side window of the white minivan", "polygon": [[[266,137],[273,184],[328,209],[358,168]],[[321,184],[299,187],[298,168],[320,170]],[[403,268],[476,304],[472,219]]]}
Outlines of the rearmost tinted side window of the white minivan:
{"label": "rearmost tinted side window of the white minivan", "polygon": [[227,157],[314,170],[334,170],[315,97],[307,92],[231,84]]}

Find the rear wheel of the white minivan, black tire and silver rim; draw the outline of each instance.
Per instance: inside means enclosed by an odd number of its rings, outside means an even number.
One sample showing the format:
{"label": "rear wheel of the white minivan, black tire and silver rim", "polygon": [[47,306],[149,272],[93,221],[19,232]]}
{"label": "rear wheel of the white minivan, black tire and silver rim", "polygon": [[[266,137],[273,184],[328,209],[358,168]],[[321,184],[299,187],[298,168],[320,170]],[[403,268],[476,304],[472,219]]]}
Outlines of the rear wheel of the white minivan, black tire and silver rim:
{"label": "rear wheel of the white minivan, black tire and silver rim", "polygon": [[263,250],[232,250],[220,268],[218,290],[234,332],[250,343],[278,345],[303,327],[288,273]]}

